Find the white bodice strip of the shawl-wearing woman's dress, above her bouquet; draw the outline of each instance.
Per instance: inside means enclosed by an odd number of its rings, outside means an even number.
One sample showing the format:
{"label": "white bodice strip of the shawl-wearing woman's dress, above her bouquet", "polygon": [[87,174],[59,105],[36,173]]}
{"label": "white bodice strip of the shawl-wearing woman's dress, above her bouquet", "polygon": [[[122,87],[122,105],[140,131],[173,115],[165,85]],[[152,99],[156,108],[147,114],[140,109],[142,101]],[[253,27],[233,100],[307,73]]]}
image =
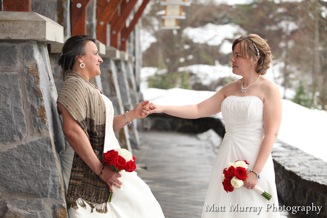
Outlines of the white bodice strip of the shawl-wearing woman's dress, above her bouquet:
{"label": "white bodice strip of the shawl-wearing woman's dress, above her bouquet", "polygon": [[106,135],[104,143],[104,152],[120,148],[118,140],[113,132],[113,106],[112,102],[103,94],[100,94],[106,105]]}

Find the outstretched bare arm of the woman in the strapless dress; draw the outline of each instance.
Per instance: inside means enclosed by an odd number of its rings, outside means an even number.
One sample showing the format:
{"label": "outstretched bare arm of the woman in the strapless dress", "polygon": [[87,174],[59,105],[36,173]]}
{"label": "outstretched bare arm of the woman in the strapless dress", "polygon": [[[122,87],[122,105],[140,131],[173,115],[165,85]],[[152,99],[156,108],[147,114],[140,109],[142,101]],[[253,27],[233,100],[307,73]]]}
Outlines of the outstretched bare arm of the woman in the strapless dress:
{"label": "outstretched bare arm of the woman in the strapless dress", "polygon": [[225,87],[220,89],[209,99],[204,100],[198,104],[185,106],[161,106],[155,103],[150,103],[146,105],[146,110],[148,110],[147,114],[165,113],[175,117],[188,119],[196,119],[215,115],[221,111],[221,103],[226,98],[224,93],[226,89]]}

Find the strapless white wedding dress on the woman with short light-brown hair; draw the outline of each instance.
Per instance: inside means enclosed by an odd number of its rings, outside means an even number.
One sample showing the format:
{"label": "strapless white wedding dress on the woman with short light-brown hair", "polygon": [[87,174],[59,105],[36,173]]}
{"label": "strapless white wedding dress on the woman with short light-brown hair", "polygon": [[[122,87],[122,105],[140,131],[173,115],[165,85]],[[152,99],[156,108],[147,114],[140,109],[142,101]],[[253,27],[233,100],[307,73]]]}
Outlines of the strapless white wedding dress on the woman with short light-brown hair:
{"label": "strapless white wedding dress on the woman with short light-brown hair", "polygon": [[[279,217],[271,154],[257,183],[257,186],[272,195],[270,201],[243,186],[227,193],[221,180],[223,169],[230,162],[246,160],[250,164],[248,171],[252,169],[264,137],[263,102],[255,96],[228,96],[221,104],[221,113],[226,134],[212,170],[202,218]],[[261,207],[260,212],[258,207]]]}

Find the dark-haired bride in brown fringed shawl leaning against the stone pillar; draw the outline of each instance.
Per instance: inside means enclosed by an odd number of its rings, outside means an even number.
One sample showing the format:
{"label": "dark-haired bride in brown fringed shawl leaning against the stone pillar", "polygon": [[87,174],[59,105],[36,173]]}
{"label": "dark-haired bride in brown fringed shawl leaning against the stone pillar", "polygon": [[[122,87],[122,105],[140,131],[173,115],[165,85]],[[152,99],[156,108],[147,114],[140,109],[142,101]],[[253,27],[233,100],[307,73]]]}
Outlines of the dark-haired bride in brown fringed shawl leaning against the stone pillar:
{"label": "dark-haired bride in brown fringed shawl leaning against the stone pillar", "polygon": [[[164,217],[159,203],[136,172],[117,173],[104,164],[103,153],[120,148],[114,132],[135,118],[145,118],[143,106],[148,101],[113,116],[112,102],[89,81],[100,75],[100,63],[95,39],[86,35],[69,38],[58,62],[64,83],[57,109],[71,145],[60,153],[69,217]],[[107,203],[110,191],[114,194]]]}

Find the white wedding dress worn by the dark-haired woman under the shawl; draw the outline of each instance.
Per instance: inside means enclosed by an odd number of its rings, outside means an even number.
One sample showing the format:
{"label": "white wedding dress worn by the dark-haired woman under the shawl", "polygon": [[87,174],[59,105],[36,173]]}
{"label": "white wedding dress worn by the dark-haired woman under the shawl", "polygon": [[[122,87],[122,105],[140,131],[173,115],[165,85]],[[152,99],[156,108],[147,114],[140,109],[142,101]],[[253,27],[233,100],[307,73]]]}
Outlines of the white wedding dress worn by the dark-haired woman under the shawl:
{"label": "white wedding dress worn by the dark-haired woman under the shawl", "polygon": [[[113,132],[113,106],[112,102],[100,94],[106,104],[106,135],[104,152],[120,148]],[[70,172],[72,169],[74,150],[69,146],[67,151],[60,153],[63,167],[63,177],[68,189]],[[136,160],[137,161],[137,160]],[[78,209],[68,210],[70,218],[164,218],[158,201],[153,196],[146,183],[137,176],[137,173],[120,171],[119,180],[123,183],[122,188],[113,187],[111,202],[107,203],[108,212],[98,213],[86,204],[86,209],[78,205]]]}

